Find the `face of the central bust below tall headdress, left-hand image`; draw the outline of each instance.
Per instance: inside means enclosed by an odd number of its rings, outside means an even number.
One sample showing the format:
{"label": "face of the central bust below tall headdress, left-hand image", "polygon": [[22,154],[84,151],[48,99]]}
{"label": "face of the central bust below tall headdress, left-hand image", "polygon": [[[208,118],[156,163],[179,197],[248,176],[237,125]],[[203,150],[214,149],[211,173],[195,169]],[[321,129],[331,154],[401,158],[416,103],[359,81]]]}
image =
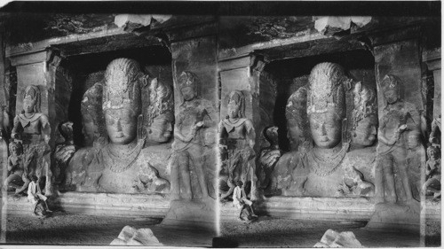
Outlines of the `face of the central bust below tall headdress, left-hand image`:
{"label": "face of the central bust below tall headdress, left-hand image", "polygon": [[107,110],[105,112],[107,134],[113,144],[129,144],[136,138],[137,115],[129,109]]}

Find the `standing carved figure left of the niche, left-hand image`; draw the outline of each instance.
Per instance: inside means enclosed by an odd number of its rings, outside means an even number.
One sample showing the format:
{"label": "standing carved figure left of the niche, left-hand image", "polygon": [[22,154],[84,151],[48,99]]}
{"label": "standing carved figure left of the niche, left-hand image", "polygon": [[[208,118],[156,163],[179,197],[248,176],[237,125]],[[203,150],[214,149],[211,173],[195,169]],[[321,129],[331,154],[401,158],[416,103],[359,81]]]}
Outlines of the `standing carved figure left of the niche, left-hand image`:
{"label": "standing carved figure left of the niche, left-hand image", "polygon": [[[25,158],[30,160],[28,177],[36,175],[37,183],[45,183],[44,194],[52,195],[52,172],[48,144],[51,126],[48,117],[39,112],[40,89],[35,85],[28,86],[22,94],[23,111],[14,118],[12,138],[21,140]],[[25,190],[28,186],[23,186]],[[23,191],[20,190],[20,191]]]}

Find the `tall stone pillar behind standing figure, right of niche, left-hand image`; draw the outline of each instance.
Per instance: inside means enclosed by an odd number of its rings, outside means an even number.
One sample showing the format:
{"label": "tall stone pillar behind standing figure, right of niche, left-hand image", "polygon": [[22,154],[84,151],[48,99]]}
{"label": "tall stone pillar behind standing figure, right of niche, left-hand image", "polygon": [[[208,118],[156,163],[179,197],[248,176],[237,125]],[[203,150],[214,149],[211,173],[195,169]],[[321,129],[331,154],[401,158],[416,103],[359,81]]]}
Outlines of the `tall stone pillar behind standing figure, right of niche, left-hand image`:
{"label": "tall stone pillar behind standing figure, right of niche, left-hand image", "polygon": [[[197,133],[198,135],[196,135],[200,137],[194,136],[193,141],[202,142],[199,142],[202,145],[202,155],[195,154],[195,150],[191,152],[195,147],[193,147],[194,145],[190,145],[193,148],[189,150],[185,148],[183,152],[188,153],[186,155],[189,155],[189,157],[192,157],[193,160],[196,161],[190,163],[188,169],[184,169],[183,166],[171,166],[181,167],[180,171],[189,170],[191,172],[191,177],[188,177],[190,178],[188,180],[191,181],[192,193],[189,198],[180,197],[171,201],[170,210],[168,211],[168,214],[166,214],[165,219],[163,219],[162,224],[181,228],[194,227],[210,232],[215,232],[218,226],[218,214],[216,208],[217,185],[215,178],[218,175],[217,158],[215,155],[217,147],[216,137],[219,92],[216,30],[217,24],[215,22],[202,24],[202,28],[197,29],[195,27],[182,27],[181,32],[177,32],[177,30],[166,31],[168,39],[165,39],[165,43],[170,47],[172,56],[174,108],[176,117],[178,118],[181,114],[180,106],[182,104],[189,104],[185,103],[186,101],[184,97],[182,97],[179,86],[180,76],[188,73],[194,75],[196,78],[193,80],[196,82],[195,93],[197,95],[194,97],[195,105],[190,108],[195,108],[195,110],[205,109],[204,113],[210,116],[212,124],[209,126],[205,124],[204,127],[200,128],[200,133]],[[186,82],[182,83],[187,84]],[[183,109],[185,109],[185,107],[183,107],[182,110]],[[203,121],[209,121],[208,117],[201,117],[201,119],[202,118]],[[178,125],[178,121],[176,121],[176,124]],[[178,126],[176,126],[176,128],[178,128]],[[188,134],[187,131],[185,132]],[[176,141],[174,143],[176,143]],[[204,181],[207,183],[209,197],[203,197],[204,195],[202,191],[204,188],[202,188],[201,183],[196,179],[196,177],[199,177],[198,174],[200,174],[196,169],[197,164],[199,163],[202,163],[203,166]],[[188,174],[180,171],[178,174],[171,176],[170,182],[171,185],[178,186],[178,188],[183,190],[183,186],[181,186],[183,182],[180,181],[181,179],[186,179],[186,175]],[[174,181],[178,183],[174,183]],[[185,180],[183,181],[185,182]]]}

